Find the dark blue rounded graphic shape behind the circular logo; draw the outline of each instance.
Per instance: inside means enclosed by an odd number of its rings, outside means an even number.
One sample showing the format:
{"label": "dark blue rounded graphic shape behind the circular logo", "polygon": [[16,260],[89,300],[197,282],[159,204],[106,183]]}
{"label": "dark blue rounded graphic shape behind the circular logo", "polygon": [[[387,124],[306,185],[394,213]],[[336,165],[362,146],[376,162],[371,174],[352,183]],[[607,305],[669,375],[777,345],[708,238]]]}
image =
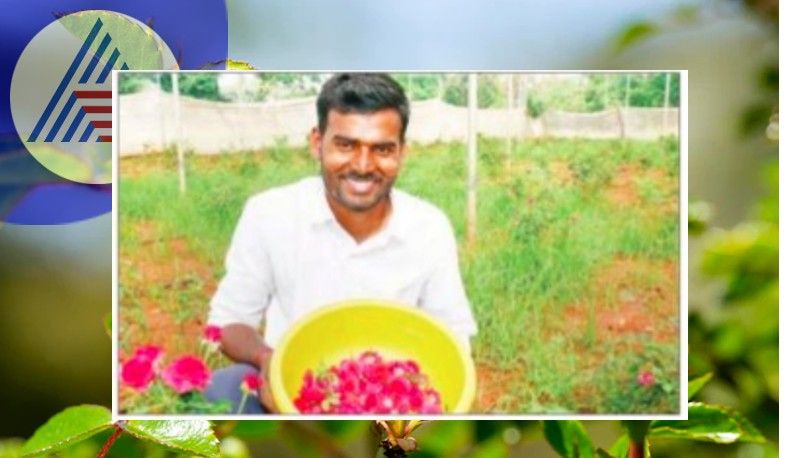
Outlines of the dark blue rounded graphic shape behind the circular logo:
{"label": "dark blue rounded graphic shape behind the circular logo", "polygon": [[[223,0],[38,0],[18,2],[13,15],[0,15],[0,172],[13,167],[15,177],[24,177],[9,182],[0,174],[0,221],[8,224],[65,224],[111,210],[110,185],[75,183],[45,168],[20,141],[11,116],[11,77],[25,46],[56,19],[55,12],[83,10],[117,12],[147,24],[169,46],[182,69],[209,68],[228,57]],[[93,55],[92,59],[99,57]],[[127,70],[128,66],[120,68]],[[90,77],[87,75],[87,81]],[[64,141],[74,139],[80,128],[83,110],[78,111]]]}

